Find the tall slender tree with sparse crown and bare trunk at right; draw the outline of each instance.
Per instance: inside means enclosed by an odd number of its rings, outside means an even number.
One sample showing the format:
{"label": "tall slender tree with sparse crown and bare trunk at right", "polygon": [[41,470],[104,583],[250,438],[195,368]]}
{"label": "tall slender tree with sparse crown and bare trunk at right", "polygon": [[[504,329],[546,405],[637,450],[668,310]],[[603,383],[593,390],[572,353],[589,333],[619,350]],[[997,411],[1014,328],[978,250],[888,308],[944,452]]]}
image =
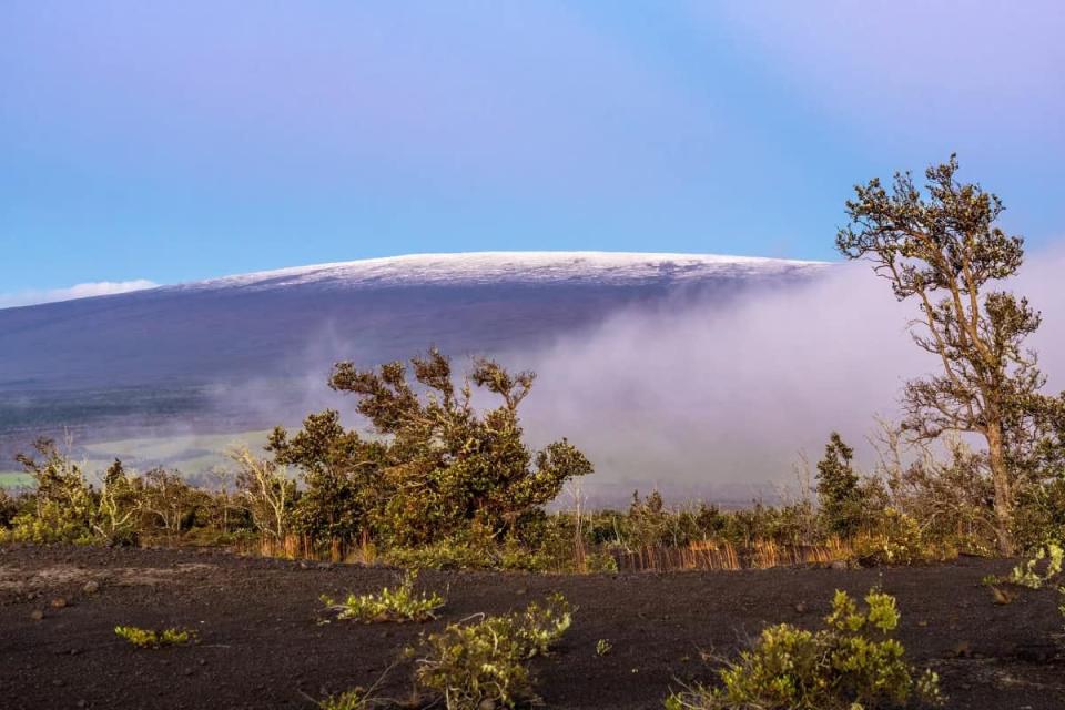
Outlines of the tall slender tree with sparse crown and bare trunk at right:
{"label": "tall slender tree with sparse crown and bare trunk at right", "polygon": [[994,487],[1000,550],[1011,554],[1018,486],[1053,458],[1049,438],[1062,399],[1039,394],[1045,377],[1024,347],[1039,326],[1026,298],[997,290],[1024,257],[1021,236],[998,225],[998,196],[955,179],[954,155],[925,171],[924,190],[911,173],[855,187],[851,223],[836,246],[848,258],[868,258],[900,301],[914,300],[911,324],[919,347],[942,371],[907,383],[904,427],[923,439],[946,432],[978,434]]}

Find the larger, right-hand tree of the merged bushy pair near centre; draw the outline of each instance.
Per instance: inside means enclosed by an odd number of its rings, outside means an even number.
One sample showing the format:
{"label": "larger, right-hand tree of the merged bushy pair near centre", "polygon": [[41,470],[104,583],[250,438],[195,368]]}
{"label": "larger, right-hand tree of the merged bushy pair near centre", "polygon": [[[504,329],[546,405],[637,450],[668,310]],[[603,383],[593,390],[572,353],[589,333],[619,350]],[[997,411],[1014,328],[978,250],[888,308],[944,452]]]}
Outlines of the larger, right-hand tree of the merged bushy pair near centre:
{"label": "larger, right-hand tree of the merged bushy pair near centre", "polygon": [[[358,398],[358,412],[387,442],[377,462],[385,491],[378,516],[393,542],[432,542],[471,524],[494,535],[515,531],[566,480],[591,473],[565,439],[539,452],[521,440],[518,406],[532,387],[532,373],[477,359],[456,387],[450,361],[438,351],[410,364],[414,383],[399,362],[373,371],[339,363],[329,382]],[[475,386],[496,395],[499,405],[476,408]]]}

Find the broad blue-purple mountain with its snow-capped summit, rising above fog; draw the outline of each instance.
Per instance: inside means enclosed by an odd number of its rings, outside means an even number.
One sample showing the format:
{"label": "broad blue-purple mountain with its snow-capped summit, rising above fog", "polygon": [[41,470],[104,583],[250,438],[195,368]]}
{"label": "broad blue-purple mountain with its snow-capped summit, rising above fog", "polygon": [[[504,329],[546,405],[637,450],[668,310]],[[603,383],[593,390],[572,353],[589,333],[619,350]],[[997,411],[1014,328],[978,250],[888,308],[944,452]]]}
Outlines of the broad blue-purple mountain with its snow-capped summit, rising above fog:
{"label": "broad blue-purple mountain with its snow-capped summit, rising above fog", "polygon": [[264,397],[246,396],[247,383],[277,402],[308,382],[324,389],[338,359],[373,366],[430,345],[527,354],[626,308],[673,298],[728,308],[824,268],[700,254],[418,254],[4,308],[0,436],[100,422],[273,425],[281,413],[256,409]]}

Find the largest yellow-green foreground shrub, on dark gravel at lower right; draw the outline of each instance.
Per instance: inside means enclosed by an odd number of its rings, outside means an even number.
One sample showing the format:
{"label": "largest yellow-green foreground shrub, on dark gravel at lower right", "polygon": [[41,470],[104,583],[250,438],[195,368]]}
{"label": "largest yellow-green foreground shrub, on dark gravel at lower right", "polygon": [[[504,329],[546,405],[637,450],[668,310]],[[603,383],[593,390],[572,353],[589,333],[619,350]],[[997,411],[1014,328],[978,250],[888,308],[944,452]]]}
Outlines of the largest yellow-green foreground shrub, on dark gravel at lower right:
{"label": "largest yellow-green foreground shrub, on dark gravel at lower right", "polygon": [[739,660],[718,671],[720,683],[672,693],[669,710],[848,710],[905,704],[912,699],[939,704],[935,673],[905,661],[892,638],[899,625],[895,599],[870,591],[865,609],[836,591],[825,629],[808,631],[790,623],[764,629]]}

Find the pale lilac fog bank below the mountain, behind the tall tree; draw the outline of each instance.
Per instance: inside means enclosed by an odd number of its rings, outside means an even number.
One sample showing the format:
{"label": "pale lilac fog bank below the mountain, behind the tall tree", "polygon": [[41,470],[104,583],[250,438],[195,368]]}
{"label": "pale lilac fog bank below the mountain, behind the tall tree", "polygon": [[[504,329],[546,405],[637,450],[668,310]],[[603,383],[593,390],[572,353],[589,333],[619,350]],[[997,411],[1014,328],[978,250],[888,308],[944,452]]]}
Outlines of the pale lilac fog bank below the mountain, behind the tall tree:
{"label": "pale lilac fog bank below the mountain, behind the tall tree", "polygon": [[[1055,392],[1065,387],[1063,268],[1065,252],[1033,255],[1011,284],[1044,314],[1032,345]],[[727,313],[676,300],[503,359],[539,375],[530,437],[565,435],[595,462],[585,493],[617,500],[657,487],[742,501],[793,484],[801,454],[815,462],[833,429],[871,463],[874,416],[895,417],[905,379],[936,365],[907,334],[915,308],[853,264]]]}

